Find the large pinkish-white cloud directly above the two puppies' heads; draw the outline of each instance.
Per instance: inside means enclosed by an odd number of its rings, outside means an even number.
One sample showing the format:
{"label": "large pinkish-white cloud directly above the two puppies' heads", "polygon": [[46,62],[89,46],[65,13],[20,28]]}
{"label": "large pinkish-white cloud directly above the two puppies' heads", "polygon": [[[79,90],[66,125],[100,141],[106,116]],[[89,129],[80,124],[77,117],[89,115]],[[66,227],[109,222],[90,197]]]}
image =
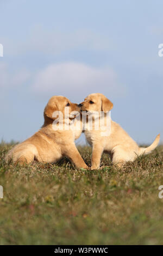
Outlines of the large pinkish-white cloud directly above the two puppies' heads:
{"label": "large pinkish-white cloud directly above the two puppies' heads", "polygon": [[37,72],[32,90],[43,95],[84,96],[95,92],[111,95],[123,95],[126,92],[111,68],[94,68],[75,62],[52,64]]}

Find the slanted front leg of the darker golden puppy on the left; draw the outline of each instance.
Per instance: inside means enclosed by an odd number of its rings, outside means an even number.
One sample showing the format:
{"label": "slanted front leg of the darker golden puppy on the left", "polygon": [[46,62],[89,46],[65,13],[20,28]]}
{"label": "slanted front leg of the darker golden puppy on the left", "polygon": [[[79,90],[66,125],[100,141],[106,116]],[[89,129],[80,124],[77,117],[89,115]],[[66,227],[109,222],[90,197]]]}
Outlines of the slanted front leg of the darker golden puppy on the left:
{"label": "slanted front leg of the darker golden puppy on the left", "polygon": [[78,149],[76,148],[76,145],[69,145],[68,148],[65,148],[64,155],[68,157],[77,167],[89,169],[87,167],[86,163],[82,159],[82,156],[80,156]]}

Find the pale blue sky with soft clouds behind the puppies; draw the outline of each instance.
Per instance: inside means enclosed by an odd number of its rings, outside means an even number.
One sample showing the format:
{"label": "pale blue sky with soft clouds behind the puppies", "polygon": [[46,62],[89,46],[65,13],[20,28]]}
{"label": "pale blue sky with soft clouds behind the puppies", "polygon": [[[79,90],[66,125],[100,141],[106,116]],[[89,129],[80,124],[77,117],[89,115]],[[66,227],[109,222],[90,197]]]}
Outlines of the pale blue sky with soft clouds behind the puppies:
{"label": "pale blue sky with soft clouds behind the puppies", "polygon": [[163,134],[162,8],[161,0],[1,0],[0,139],[33,135],[53,95],[78,103],[96,92],[136,142]]}

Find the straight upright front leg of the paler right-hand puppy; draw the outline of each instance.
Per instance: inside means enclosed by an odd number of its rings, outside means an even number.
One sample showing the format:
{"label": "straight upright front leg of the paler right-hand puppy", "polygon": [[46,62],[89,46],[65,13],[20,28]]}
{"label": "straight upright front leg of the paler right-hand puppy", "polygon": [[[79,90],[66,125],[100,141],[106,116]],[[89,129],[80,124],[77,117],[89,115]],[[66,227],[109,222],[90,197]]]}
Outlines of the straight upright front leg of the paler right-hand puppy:
{"label": "straight upright front leg of the paler right-hand puppy", "polygon": [[101,155],[103,153],[103,147],[98,144],[93,144],[93,149],[92,149],[92,159],[91,159],[91,170],[95,170],[99,168],[100,160],[101,160]]}

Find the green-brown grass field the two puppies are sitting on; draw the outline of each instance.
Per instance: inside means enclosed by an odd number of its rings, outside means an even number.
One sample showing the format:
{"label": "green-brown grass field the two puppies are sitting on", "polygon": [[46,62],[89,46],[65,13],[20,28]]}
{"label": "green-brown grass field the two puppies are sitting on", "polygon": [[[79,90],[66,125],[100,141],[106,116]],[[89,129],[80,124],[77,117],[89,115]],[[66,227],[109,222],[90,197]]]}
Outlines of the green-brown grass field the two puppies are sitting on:
{"label": "green-brown grass field the two puppies are sitting on", "polygon": [[[163,244],[163,146],[122,169],[104,154],[95,171],[66,159],[14,167],[10,147],[0,144],[0,245]],[[90,166],[91,149],[79,151]]]}

